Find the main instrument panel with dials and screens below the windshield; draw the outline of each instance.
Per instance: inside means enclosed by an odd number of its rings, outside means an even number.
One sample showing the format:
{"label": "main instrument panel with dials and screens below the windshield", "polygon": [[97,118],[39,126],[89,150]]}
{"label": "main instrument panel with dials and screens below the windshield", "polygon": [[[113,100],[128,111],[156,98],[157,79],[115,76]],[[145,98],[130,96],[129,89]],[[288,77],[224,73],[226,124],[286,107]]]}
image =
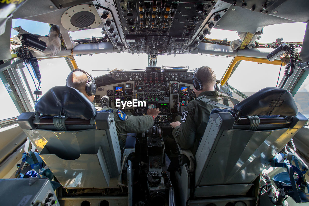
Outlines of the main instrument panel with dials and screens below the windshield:
{"label": "main instrument panel with dials and screens below the windshield", "polygon": [[[185,105],[196,98],[193,91],[192,72],[113,72],[107,76],[111,84],[100,86],[104,76],[95,78],[98,86],[95,103],[100,105],[101,97],[107,95],[109,107],[130,112],[133,115],[144,115],[147,109],[159,108],[161,113],[155,122],[171,122],[172,115],[180,114]],[[117,83],[113,83],[117,81]],[[121,105],[116,107],[116,100],[145,101],[142,106]]]}

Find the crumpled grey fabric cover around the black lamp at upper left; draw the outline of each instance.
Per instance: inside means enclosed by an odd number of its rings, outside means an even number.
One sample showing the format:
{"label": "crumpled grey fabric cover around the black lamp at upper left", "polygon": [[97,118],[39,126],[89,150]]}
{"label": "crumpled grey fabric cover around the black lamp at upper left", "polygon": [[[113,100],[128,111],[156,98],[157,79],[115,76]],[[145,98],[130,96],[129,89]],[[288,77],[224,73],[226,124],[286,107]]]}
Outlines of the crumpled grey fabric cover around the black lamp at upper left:
{"label": "crumpled grey fabric cover around the black lamp at upper left", "polygon": [[[25,30],[23,30],[20,26],[13,28],[15,31],[19,32],[18,35],[13,36],[13,40],[20,43],[20,36],[23,34],[31,34]],[[49,57],[56,55],[60,52],[61,50],[61,39],[59,38],[59,32],[57,31],[57,28],[55,25],[52,25],[52,27],[49,30],[49,35],[46,36],[40,36],[38,34],[33,34],[34,36],[38,37],[39,40],[44,41],[47,45],[45,51],[41,52],[39,50],[33,49],[29,47],[30,50],[39,52],[43,56]]]}

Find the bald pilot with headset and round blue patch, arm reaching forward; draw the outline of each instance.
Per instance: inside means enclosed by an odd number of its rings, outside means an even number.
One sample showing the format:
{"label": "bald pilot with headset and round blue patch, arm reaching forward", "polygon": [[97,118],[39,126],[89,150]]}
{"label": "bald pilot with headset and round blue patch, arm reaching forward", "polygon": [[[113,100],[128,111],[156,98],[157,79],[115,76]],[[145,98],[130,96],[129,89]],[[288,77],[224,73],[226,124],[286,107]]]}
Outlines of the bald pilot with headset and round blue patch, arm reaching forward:
{"label": "bald pilot with headset and round blue patch, arm reaching forward", "polygon": [[[102,110],[93,101],[95,98],[96,85],[93,77],[81,69],[74,69],[66,79],[66,86],[73,87],[82,92],[85,97],[92,102],[95,109]],[[119,139],[120,147],[125,146],[126,133],[143,133],[154,124],[154,119],[160,113],[159,109],[148,109],[146,116],[133,116],[126,114],[120,109],[104,108],[110,110],[114,114],[116,131]]]}

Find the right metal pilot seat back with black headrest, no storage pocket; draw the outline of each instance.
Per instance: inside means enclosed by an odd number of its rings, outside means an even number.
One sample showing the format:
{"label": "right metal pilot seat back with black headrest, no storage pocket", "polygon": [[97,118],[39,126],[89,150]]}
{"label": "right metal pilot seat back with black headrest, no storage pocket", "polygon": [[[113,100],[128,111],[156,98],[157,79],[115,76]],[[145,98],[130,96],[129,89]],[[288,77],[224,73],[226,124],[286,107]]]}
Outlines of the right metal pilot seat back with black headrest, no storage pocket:
{"label": "right metal pilot seat back with black headrest, no storage pocket", "polygon": [[277,88],[265,88],[235,105],[231,113],[240,112],[241,117],[291,115],[257,118],[260,125],[255,131],[248,130],[250,118],[235,123],[230,112],[211,114],[195,155],[194,196],[245,195],[261,171],[308,121],[302,114],[296,115],[294,105],[293,97]]}

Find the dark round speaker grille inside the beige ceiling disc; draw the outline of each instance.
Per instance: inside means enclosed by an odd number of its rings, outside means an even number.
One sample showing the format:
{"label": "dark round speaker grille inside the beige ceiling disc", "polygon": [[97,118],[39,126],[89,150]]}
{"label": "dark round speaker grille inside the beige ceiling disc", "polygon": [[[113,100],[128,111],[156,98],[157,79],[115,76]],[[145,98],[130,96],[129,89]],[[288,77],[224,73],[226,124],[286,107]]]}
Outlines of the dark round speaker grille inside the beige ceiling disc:
{"label": "dark round speaker grille inside the beige ceiling disc", "polygon": [[80,11],[71,17],[71,24],[75,27],[88,27],[95,21],[95,15],[89,11]]}

